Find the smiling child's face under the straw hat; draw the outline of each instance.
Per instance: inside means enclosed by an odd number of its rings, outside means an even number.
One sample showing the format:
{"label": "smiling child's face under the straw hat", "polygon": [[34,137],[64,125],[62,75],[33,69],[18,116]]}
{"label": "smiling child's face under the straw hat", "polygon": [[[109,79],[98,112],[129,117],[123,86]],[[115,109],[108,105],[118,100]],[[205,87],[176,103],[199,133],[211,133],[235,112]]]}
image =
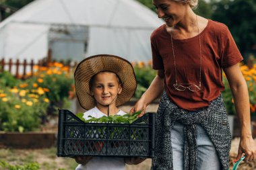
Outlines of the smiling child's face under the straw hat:
{"label": "smiling child's face under the straw hat", "polygon": [[[92,95],[96,105],[109,105],[122,91],[117,75],[110,72],[98,73],[92,83]],[[111,104],[115,105],[115,101]]]}

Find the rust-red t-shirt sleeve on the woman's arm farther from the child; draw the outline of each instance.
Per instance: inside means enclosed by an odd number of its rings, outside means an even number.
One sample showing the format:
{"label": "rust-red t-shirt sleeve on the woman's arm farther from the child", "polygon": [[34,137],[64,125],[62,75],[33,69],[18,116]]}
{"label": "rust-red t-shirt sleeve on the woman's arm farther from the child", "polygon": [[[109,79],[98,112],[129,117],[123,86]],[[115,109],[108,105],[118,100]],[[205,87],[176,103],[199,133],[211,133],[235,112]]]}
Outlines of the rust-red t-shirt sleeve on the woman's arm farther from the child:
{"label": "rust-red t-shirt sleeve on the woman's arm farther from the child", "polygon": [[243,60],[243,56],[239,52],[234,39],[228,27],[225,26],[221,33],[222,51],[221,51],[221,65],[223,68],[235,65]]}

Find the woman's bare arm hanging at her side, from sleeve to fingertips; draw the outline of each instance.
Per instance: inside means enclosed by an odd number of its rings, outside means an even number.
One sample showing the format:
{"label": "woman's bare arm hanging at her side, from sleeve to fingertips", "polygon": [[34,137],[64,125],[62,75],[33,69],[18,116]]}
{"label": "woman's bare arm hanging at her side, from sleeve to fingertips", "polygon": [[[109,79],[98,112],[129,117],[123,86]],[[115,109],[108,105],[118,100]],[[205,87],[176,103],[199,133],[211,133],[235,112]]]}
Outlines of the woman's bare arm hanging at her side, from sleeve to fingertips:
{"label": "woman's bare arm hanging at her side, from sleeve to fingertips", "polygon": [[234,106],[241,125],[241,140],[236,161],[241,159],[243,153],[246,155],[245,161],[252,161],[256,159],[256,144],[251,135],[251,116],[247,83],[241,73],[239,64],[223,70],[234,97]]}

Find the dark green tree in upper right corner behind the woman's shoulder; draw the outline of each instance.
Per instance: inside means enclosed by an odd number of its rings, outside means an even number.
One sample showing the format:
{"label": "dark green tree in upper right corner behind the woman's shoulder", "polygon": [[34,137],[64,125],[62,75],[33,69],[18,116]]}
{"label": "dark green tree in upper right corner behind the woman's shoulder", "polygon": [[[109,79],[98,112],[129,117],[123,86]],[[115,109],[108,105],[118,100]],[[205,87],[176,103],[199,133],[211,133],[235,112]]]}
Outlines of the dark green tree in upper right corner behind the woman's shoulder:
{"label": "dark green tree in upper right corner behind the woman's shoulder", "polygon": [[256,1],[213,1],[212,19],[228,26],[241,53],[246,54],[256,44]]}

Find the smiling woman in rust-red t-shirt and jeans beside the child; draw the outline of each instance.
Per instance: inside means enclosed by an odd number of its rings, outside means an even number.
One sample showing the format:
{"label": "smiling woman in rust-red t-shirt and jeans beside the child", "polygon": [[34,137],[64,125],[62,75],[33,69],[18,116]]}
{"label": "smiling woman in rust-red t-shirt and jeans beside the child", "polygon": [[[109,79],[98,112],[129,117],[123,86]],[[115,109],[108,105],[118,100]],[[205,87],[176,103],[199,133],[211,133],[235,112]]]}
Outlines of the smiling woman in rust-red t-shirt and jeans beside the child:
{"label": "smiling woman in rust-red t-shirt and jeans beside the child", "polygon": [[[241,123],[236,161],[256,159],[249,95],[239,69],[243,60],[228,28],[196,15],[197,0],[153,0],[166,24],[151,36],[158,74],[131,112],[162,94],[156,115],[152,169],[228,169],[231,136],[221,92],[228,78]],[[141,115],[142,116],[142,115]]]}

